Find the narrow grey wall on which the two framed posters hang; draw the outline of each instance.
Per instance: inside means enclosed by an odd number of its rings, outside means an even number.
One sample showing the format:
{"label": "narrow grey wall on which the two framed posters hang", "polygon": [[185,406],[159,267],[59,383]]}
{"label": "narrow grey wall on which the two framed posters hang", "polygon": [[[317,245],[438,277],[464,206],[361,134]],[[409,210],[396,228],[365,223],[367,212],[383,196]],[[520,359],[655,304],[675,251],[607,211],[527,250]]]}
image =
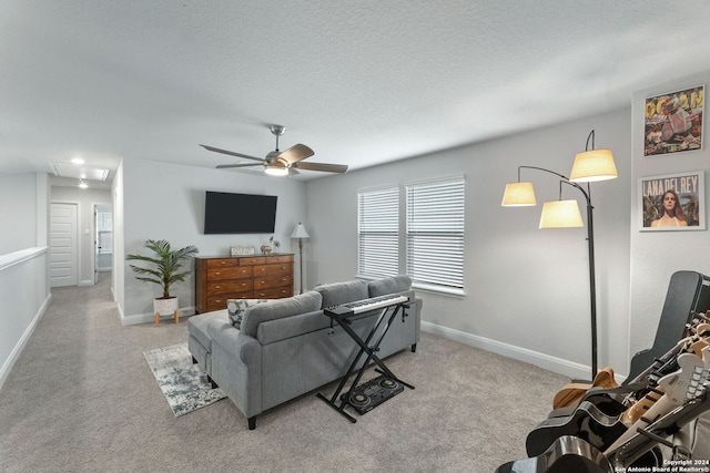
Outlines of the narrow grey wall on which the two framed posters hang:
{"label": "narrow grey wall on which the two framed posters hang", "polygon": [[[704,230],[639,232],[640,202],[638,179],[641,177],[700,171],[710,168],[708,125],[703,119],[703,148],[665,155],[643,156],[643,110],[647,97],[668,92],[710,84],[710,72],[655,85],[633,94],[632,114],[632,179],[631,187],[631,288],[630,288],[630,349],[635,353],[649,348],[656,336],[668,282],[678,270],[698,271],[710,276],[708,244],[710,234]],[[707,113],[706,107],[706,113]],[[706,183],[704,203],[708,205]],[[706,210],[707,218],[707,210]]]}

